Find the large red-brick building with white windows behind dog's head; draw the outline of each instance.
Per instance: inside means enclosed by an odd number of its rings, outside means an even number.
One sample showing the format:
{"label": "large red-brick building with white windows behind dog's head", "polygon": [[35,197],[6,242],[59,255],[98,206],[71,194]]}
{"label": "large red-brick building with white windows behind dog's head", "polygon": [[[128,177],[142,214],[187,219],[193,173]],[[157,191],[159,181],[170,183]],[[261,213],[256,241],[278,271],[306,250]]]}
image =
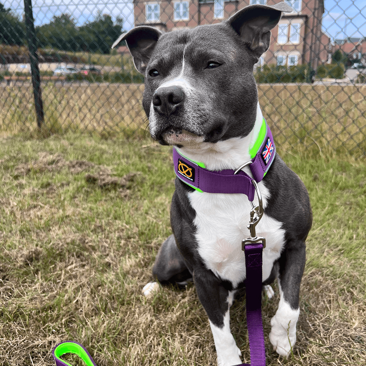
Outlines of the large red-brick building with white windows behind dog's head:
{"label": "large red-brick building with white windows behind dog's head", "polygon": [[[321,31],[324,0],[285,0],[293,9],[283,13],[272,30],[271,44],[259,65],[308,64],[315,69],[330,55],[330,38]],[[250,4],[273,5],[281,0],[133,0],[135,26],[162,31],[214,24]]]}

